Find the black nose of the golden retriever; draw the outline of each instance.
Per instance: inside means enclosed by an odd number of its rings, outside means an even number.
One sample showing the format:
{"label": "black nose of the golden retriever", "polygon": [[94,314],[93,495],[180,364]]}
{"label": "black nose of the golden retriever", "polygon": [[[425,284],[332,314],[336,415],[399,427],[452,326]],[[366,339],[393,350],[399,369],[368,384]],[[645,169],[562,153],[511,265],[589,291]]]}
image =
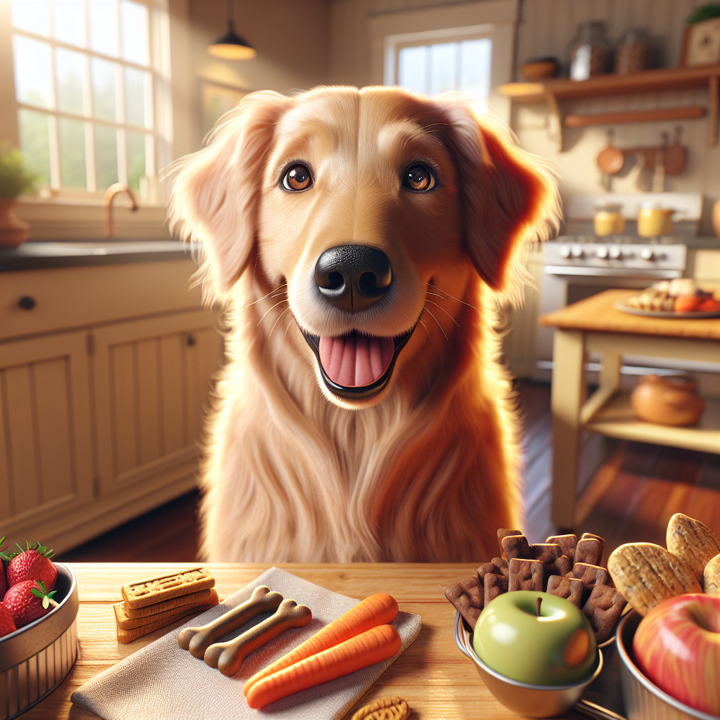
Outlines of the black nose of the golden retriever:
{"label": "black nose of the golden retriever", "polygon": [[366,245],[328,248],[315,264],[315,282],[341,310],[365,310],[390,288],[390,258],[382,250]]}

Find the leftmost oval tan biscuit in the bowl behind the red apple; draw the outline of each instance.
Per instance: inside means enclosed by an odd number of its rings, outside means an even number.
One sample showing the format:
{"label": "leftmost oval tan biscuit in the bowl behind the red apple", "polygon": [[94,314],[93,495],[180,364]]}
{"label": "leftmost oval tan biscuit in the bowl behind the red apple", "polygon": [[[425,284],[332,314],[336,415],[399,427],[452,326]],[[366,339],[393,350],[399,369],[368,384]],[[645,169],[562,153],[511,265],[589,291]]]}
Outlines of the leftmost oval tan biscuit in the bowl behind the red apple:
{"label": "leftmost oval tan biscuit in the bowl behind the red apple", "polygon": [[662,600],[703,591],[685,562],[652,543],[621,545],[608,558],[608,570],[615,587],[643,616]]}

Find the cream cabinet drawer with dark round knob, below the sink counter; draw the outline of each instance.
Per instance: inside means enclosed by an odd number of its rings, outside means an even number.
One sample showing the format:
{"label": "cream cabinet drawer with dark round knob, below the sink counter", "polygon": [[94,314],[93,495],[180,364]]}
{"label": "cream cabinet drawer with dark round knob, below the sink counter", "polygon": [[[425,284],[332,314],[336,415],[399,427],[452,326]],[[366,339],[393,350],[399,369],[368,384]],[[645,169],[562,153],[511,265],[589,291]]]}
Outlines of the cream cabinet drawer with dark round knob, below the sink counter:
{"label": "cream cabinet drawer with dark round knob, below the sink counter", "polygon": [[196,269],[186,258],[2,273],[0,341],[199,308]]}

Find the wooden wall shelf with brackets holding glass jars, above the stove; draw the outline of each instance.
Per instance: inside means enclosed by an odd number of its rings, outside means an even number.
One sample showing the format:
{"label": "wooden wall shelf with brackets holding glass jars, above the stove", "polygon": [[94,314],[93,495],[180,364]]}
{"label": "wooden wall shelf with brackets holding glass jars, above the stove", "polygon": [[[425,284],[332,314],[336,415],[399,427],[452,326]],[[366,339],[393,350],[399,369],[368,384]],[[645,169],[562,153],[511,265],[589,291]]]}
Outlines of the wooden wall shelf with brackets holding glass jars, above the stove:
{"label": "wooden wall shelf with brackets holding glass jars, above the stove", "polygon": [[[720,64],[701,68],[657,68],[630,75],[606,73],[588,80],[575,81],[569,78],[548,78],[536,83],[508,83],[498,90],[513,102],[546,102],[554,120],[554,135],[558,149],[562,152],[562,127],[567,125],[562,117],[559,102],[564,100],[582,100],[595,97],[634,95],[647,92],[672,91],[687,88],[708,88],[708,146],[718,141],[718,115],[720,104]],[[663,109],[672,114],[672,108]],[[660,115],[653,120],[670,120],[672,117]],[[641,122],[637,112],[613,113],[612,124],[618,122]],[[699,117],[695,114],[693,117]],[[573,127],[586,125],[604,125],[607,118],[602,115],[575,115]]]}

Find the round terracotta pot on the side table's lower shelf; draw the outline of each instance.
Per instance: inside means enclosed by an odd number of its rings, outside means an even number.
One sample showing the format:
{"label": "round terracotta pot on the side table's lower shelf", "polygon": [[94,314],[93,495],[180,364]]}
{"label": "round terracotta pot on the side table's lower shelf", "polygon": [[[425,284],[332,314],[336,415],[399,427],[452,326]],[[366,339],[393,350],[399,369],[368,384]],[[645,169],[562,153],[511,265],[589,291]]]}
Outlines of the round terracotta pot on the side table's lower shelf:
{"label": "round terracotta pot on the side table's lower shelf", "polygon": [[698,384],[681,377],[645,375],[630,395],[634,413],[658,425],[694,425],[705,410]]}

